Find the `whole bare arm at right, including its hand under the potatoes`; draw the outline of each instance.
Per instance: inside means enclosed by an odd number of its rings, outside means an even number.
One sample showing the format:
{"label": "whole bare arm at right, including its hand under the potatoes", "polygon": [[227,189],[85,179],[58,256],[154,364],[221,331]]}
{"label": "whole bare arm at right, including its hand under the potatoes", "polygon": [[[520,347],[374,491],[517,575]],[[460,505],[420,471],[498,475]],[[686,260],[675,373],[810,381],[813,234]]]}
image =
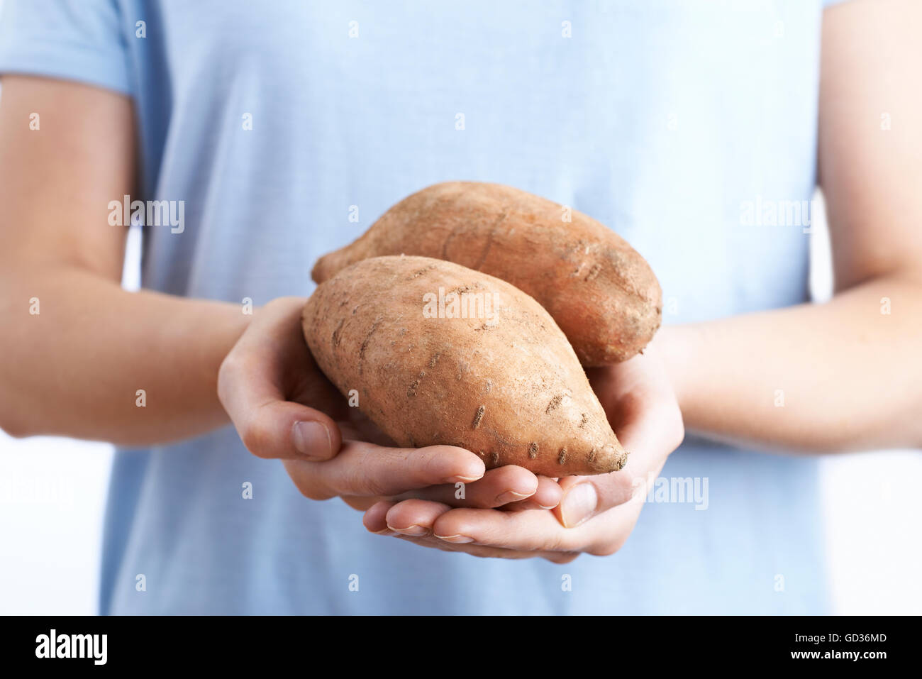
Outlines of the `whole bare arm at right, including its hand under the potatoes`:
{"label": "whole bare arm at right, including its hand under the potatoes", "polygon": [[[443,550],[566,563],[621,549],[649,481],[680,444],[683,418],[765,447],[922,445],[922,98],[912,53],[920,19],[922,7],[907,0],[859,0],[824,14],[820,163],[832,302],[663,328],[644,355],[590,371],[631,457],[621,471],[561,479],[551,512],[383,501],[365,513],[366,529]],[[884,111],[894,121],[888,133]],[[891,316],[881,315],[881,297],[892,300]],[[776,388],[785,389],[784,408],[774,408]]]}

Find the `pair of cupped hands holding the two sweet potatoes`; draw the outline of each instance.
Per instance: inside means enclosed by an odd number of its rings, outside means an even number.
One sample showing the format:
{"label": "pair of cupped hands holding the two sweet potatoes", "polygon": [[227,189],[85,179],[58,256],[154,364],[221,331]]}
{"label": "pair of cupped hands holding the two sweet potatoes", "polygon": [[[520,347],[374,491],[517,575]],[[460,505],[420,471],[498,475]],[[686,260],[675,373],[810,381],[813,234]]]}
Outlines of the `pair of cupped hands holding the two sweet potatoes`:
{"label": "pair of cupped hands holding the two sweet potatoes", "polygon": [[281,459],[301,494],[341,497],[367,530],[425,547],[567,563],[621,549],[646,487],[679,446],[674,390],[655,348],[587,371],[621,444],[621,471],[551,479],[522,467],[486,470],[460,447],[393,447],[350,408],[313,361],[301,297],[260,307],[221,364],[218,394],[243,445]]}

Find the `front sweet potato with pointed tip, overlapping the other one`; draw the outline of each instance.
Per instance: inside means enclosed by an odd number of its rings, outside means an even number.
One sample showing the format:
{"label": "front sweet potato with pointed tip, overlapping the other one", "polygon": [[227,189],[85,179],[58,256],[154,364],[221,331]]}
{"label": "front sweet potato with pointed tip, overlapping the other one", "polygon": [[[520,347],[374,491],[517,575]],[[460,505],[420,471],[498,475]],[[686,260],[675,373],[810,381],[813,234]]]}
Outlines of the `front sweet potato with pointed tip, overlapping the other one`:
{"label": "front sweet potato with pointed tip, overlapping the other one", "polygon": [[[439,288],[447,299],[495,292],[498,305],[426,317],[424,296]],[[625,462],[560,328],[502,280],[428,257],[373,257],[318,286],[302,319],[325,375],[343,395],[356,389],[360,410],[398,446],[464,447],[488,469],[552,477]]]}

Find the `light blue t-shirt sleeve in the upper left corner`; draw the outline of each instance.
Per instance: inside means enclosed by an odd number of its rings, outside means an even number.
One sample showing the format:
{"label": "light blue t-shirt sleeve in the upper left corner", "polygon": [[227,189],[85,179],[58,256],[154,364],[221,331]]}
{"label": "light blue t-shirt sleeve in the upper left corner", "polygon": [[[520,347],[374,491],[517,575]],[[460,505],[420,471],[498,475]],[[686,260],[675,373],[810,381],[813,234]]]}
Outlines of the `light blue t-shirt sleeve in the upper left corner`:
{"label": "light blue t-shirt sleeve in the upper left corner", "polygon": [[0,3],[0,75],[59,77],[133,94],[126,23],[115,0]]}

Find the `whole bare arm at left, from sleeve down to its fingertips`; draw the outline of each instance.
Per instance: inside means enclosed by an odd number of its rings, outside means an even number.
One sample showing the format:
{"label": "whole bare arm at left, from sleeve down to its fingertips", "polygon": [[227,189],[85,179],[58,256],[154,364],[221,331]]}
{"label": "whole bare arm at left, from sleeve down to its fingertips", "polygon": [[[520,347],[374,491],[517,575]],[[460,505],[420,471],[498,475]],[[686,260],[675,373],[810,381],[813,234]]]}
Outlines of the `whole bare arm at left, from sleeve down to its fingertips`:
{"label": "whole bare arm at left, from sleeve down to its fingertips", "polygon": [[[30,130],[31,112],[41,129]],[[353,413],[313,363],[303,299],[244,316],[236,304],[125,292],[125,229],[106,217],[110,200],[132,193],[134,138],[131,102],[120,95],[4,78],[0,426],[8,433],[139,446],[232,421],[254,455],[283,459],[313,499],[368,506],[369,496],[417,492],[454,502],[454,484],[465,482],[462,504],[557,504],[556,483],[518,467],[485,473],[462,448],[369,443],[374,433],[343,422]],[[144,408],[137,389],[146,391]]]}

